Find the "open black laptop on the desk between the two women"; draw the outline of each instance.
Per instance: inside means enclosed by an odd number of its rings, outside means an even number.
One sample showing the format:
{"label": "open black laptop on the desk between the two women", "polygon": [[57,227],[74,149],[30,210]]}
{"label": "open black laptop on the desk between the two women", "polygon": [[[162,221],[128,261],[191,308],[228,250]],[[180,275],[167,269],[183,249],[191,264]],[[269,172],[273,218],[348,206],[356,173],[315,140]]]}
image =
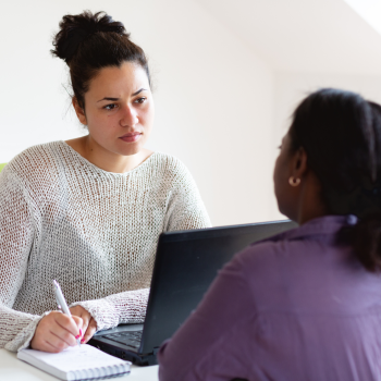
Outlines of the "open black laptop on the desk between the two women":
{"label": "open black laptop on the desk between the two women", "polygon": [[99,331],[89,344],[136,365],[157,364],[160,345],[197,307],[219,269],[250,243],[296,226],[287,220],[162,233],[144,324]]}

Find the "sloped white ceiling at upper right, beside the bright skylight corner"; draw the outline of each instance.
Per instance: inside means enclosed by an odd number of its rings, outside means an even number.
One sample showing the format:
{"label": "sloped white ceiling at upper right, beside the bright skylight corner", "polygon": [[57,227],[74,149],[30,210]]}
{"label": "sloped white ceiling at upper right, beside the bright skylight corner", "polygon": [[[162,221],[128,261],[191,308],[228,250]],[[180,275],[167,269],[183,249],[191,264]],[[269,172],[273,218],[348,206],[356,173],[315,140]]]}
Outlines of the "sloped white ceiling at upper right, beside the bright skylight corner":
{"label": "sloped white ceiling at upper right, beside the bright skylight corner", "polygon": [[279,71],[381,75],[381,35],[344,0],[195,0]]}

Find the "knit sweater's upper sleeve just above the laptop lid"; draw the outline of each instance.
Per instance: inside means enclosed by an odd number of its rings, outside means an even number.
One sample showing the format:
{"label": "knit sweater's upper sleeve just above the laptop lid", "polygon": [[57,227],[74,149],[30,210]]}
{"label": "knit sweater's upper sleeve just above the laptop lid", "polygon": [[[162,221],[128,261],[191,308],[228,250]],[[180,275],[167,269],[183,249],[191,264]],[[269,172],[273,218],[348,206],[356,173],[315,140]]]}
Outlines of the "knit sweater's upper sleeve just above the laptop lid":
{"label": "knit sweater's upper sleeve just above the laptop lid", "polygon": [[164,231],[210,228],[210,219],[187,168],[177,162],[168,200]]}

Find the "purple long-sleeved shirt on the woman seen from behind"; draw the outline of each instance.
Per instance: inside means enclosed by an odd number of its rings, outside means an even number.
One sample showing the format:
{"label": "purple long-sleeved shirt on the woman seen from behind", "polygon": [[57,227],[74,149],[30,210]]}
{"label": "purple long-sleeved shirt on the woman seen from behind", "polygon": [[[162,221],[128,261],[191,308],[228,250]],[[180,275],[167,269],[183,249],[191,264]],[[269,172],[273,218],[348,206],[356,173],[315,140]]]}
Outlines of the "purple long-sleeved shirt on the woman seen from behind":
{"label": "purple long-sleeved shirt on the woman seen from behind", "polygon": [[158,354],[160,381],[381,380],[381,275],[328,216],[254,244]]}

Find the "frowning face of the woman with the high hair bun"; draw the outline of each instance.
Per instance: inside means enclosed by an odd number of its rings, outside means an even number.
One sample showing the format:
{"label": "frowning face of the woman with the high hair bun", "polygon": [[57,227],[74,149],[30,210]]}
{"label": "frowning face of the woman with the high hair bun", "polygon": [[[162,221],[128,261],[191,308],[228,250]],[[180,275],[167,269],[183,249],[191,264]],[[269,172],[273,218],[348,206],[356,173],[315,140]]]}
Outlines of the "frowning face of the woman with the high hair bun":
{"label": "frowning face of the woman with the high hair bun", "polygon": [[153,116],[147,74],[132,62],[101,69],[85,94],[85,112],[78,114],[99,146],[123,156],[135,155],[143,148]]}

